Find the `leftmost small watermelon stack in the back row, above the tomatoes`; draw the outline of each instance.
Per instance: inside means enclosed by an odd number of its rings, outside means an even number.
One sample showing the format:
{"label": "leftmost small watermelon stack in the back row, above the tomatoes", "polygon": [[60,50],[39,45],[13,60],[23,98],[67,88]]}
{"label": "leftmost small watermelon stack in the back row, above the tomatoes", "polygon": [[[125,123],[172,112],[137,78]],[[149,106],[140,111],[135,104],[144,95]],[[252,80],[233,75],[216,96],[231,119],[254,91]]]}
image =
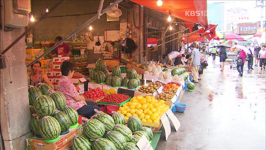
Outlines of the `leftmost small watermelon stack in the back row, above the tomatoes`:
{"label": "leftmost small watermelon stack in the back row, above the tomatoes", "polygon": [[91,81],[105,83],[108,75],[110,75],[110,73],[106,70],[106,63],[104,60],[98,59],[95,63],[95,68],[91,68],[90,70]]}

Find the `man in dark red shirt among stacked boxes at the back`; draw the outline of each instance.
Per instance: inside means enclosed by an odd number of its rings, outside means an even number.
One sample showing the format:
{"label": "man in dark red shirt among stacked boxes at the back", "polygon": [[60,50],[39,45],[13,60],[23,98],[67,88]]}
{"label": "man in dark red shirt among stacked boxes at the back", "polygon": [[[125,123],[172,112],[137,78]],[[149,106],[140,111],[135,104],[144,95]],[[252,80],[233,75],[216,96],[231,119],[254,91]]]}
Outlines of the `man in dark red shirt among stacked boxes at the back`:
{"label": "man in dark red shirt among stacked boxes at the back", "polygon": [[[62,37],[58,36],[55,39],[55,43],[57,44],[61,40],[62,40]],[[58,55],[61,55],[62,57],[64,57],[64,56],[69,56],[70,54],[71,54],[70,47],[65,42],[63,42],[62,44],[56,47],[55,54],[50,54],[50,56],[58,57]]]}

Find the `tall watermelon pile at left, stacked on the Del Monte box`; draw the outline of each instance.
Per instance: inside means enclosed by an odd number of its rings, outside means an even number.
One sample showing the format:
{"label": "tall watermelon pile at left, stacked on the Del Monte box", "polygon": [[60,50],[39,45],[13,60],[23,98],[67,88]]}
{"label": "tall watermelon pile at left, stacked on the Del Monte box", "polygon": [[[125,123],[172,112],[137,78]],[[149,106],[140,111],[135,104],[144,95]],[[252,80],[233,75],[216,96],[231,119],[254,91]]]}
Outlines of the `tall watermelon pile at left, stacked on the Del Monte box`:
{"label": "tall watermelon pile at left, stacked on the Del Monte box", "polygon": [[70,126],[78,122],[78,113],[74,108],[66,106],[64,94],[51,89],[46,83],[39,88],[28,88],[32,117],[30,127],[35,135],[45,140],[58,138],[60,133],[68,131]]}

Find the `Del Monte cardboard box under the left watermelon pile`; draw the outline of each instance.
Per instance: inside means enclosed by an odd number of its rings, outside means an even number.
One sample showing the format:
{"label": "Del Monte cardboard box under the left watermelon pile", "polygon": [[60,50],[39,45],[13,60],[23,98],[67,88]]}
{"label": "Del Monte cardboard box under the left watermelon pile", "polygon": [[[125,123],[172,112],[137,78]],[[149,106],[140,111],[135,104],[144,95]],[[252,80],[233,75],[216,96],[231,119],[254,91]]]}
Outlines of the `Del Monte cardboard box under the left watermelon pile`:
{"label": "Del Monte cardboard box under the left watermelon pile", "polygon": [[68,150],[71,149],[72,139],[74,135],[82,133],[82,125],[77,128],[69,129],[69,133],[59,136],[59,141],[54,143],[46,143],[43,138],[27,138],[27,150]]}

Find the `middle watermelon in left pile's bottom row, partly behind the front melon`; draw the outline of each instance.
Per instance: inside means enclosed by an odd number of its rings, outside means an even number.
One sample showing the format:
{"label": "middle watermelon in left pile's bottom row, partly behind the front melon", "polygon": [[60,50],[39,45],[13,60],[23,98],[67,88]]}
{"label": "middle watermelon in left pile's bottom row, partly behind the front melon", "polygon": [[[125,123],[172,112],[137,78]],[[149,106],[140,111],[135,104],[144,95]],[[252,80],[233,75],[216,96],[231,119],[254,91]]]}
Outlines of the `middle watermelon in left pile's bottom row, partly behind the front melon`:
{"label": "middle watermelon in left pile's bottom row, partly behind the front melon", "polygon": [[53,115],[53,117],[56,118],[56,120],[60,124],[61,132],[66,132],[69,129],[70,120],[64,112],[59,110]]}

